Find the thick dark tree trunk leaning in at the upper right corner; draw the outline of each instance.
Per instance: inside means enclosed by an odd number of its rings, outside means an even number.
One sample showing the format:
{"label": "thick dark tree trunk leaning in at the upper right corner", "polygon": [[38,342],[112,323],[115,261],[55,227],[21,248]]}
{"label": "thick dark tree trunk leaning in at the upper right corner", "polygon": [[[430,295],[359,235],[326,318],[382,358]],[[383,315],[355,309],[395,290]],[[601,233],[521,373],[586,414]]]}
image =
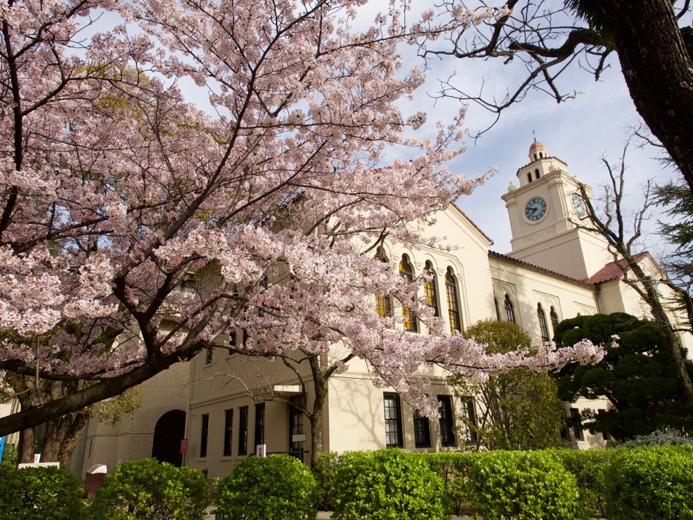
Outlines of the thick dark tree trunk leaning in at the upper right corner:
{"label": "thick dark tree trunk leaning in at the upper right corner", "polygon": [[670,0],[598,0],[642,119],[693,193],[693,62]]}

